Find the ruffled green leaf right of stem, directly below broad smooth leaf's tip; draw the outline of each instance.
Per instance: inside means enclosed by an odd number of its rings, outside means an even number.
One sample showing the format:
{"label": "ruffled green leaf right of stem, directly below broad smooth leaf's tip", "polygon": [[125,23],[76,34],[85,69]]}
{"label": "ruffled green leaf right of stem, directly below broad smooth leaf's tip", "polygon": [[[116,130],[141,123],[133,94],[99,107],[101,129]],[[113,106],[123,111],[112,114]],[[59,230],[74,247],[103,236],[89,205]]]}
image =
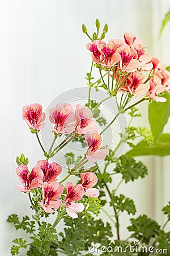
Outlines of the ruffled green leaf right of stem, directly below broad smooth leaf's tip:
{"label": "ruffled green leaf right of stem, directly below broad smooth leaf's tip", "polygon": [[138,177],[145,177],[147,175],[147,168],[141,161],[137,162],[134,158],[122,155],[116,161],[114,172],[122,174],[122,179],[127,183],[128,181],[138,179]]}

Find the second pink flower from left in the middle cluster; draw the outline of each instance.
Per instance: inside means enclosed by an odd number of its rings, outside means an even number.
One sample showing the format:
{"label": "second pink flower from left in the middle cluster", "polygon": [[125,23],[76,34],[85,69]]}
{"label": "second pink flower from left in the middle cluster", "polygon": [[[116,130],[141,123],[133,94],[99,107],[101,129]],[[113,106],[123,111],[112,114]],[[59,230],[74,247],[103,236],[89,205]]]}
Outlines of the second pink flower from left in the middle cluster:
{"label": "second pink flower from left in the middle cluster", "polygon": [[66,118],[73,112],[74,108],[70,104],[59,103],[56,105],[56,108],[49,109],[49,121],[54,123],[54,131],[57,134],[64,133],[63,129],[65,127]]}

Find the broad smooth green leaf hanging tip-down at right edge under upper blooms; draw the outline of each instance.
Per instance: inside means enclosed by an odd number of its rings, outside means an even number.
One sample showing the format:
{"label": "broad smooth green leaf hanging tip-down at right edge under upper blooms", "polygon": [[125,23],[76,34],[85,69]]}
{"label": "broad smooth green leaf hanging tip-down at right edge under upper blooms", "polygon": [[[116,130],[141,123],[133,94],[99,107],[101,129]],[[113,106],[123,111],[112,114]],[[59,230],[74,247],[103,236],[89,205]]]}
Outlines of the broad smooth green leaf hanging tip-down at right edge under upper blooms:
{"label": "broad smooth green leaf hanging tip-down at right edge under upper blooms", "polygon": [[166,102],[152,101],[148,106],[148,119],[155,142],[162,134],[170,116],[170,94],[164,93],[163,97],[167,99]]}

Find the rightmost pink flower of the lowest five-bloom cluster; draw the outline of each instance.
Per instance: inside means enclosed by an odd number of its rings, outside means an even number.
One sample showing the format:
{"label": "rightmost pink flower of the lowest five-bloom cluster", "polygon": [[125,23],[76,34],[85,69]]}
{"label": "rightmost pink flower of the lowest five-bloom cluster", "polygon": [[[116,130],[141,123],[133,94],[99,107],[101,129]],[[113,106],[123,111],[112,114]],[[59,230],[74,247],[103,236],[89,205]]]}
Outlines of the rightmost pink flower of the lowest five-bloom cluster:
{"label": "rightmost pink flower of the lowest five-bloom cluster", "polygon": [[93,172],[86,172],[80,174],[81,184],[84,189],[84,195],[91,197],[99,196],[99,189],[93,188],[97,183],[97,176]]}

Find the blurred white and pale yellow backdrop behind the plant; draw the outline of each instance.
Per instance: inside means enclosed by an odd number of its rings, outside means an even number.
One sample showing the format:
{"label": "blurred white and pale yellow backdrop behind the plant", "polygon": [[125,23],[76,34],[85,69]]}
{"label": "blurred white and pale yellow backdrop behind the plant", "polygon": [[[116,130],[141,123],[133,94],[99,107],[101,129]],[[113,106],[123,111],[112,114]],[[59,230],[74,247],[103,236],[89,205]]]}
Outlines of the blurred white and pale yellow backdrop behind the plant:
{"label": "blurred white and pale yellow backdrop behind the plant", "polygon": [[[158,40],[168,9],[168,0],[0,1],[1,255],[10,255],[11,241],[24,236],[6,222],[8,215],[31,214],[27,196],[15,187],[19,182],[15,158],[23,152],[29,158],[30,168],[43,158],[35,137],[22,120],[23,106],[37,102],[46,109],[59,94],[86,86],[84,77],[90,69],[91,55],[81,27],[85,23],[91,34],[96,18],[102,25],[108,23],[105,40],[123,39],[124,32],[133,32],[143,40],[146,52],[170,65],[169,26]],[[149,129],[147,105],[141,104],[140,110],[143,117],[136,124]],[[168,123],[165,127],[168,133],[169,128]],[[122,185],[120,192],[135,201],[137,216],[148,214],[162,225],[165,220],[161,209],[169,201],[170,158],[139,159],[149,168],[149,175]],[[108,220],[104,215],[101,217]],[[120,222],[121,237],[127,237],[126,215]]]}

